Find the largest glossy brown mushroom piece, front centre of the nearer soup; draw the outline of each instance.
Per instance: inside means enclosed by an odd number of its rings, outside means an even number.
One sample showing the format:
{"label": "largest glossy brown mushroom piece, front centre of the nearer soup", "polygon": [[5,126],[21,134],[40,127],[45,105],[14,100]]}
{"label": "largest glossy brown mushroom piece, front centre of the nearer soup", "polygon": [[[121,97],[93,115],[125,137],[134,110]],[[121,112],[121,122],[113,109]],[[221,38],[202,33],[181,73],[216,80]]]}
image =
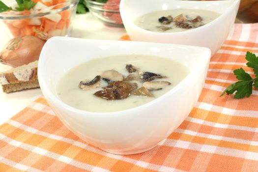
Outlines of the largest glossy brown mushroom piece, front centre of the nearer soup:
{"label": "largest glossy brown mushroom piece, front centre of the nearer soup", "polygon": [[107,100],[118,100],[127,98],[133,89],[136,89],[133,83],[113,81],[109,87],[95,92],[94,95]]}

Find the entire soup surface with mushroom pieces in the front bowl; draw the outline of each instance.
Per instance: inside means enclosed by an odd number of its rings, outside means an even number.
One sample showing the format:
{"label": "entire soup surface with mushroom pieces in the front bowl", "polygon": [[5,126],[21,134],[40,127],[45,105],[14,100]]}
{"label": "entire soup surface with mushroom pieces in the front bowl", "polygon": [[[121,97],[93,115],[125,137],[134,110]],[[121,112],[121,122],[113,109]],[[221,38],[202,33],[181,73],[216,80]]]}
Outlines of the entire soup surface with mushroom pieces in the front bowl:
{"label": "entire soup surface with mushroom pieces in the front bowl", "polygon": [[180,83],[187,68],[169,58],[117,55],[72,68],[57,83],[64,103],[90,112],[115,112],[158,98]]}

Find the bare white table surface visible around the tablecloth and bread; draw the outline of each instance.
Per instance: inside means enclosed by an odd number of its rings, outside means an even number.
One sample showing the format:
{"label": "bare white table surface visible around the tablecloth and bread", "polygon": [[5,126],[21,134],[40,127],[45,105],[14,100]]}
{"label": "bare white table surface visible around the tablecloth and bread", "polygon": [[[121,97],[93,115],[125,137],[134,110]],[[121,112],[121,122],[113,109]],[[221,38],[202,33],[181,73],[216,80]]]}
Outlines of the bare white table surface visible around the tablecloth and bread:
{"label": "bare white table surface visible around the tablecloth and bread", "polygon": [[[87,13],[76,15],[71,37],[117,40],[125,33],[124,28],[105,26],[91,14]],[[6,31],[3,29],[2,25],[0,25],[0,50],[9,39],[9,35],[6,34]],[[10,68],[10,66],[0,63],[0,72]],[[3,93],[0,88],[0,124],[16,115],[40,96],[42,96],[40,88],[8,94]]]}

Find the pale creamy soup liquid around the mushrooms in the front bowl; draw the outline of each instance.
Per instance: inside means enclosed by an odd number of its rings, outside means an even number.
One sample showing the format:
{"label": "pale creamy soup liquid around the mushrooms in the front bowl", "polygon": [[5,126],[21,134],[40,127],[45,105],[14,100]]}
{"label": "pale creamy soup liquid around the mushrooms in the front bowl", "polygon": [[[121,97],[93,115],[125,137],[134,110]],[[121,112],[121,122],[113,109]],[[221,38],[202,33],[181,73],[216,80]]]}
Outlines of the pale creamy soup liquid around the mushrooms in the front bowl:
{"label": "pale creamy soup liquid around the mushrooms in the front bowl", "polygon": [[[83,90],[78,86],[81,81],[90,81],[97,75],[102,75],[103,71],[111,69],[116,70],[126,78],[129,75],[125,68],[126,64],[132,64],[139,71],[148,71],[166,76],[151,82],[166,81],[171,84],[159,90],[151,90],[150,92],[153,95],[151,97],[130,94],[127,98],[120,100],[107,100],[94,95],[95,92],[108,85],[103,79],[100,80],[100,85],[96,88]],[[115,112],[134,108],[154,100],[176,86],[188,73],[184,65],[163,57],[145,55],[103,57],[87,61],[68,71],[57,84],[57,94],[64,103],[80,110]],[[138,88],[143,85],[141,80],[130,82],[137,83]]]}

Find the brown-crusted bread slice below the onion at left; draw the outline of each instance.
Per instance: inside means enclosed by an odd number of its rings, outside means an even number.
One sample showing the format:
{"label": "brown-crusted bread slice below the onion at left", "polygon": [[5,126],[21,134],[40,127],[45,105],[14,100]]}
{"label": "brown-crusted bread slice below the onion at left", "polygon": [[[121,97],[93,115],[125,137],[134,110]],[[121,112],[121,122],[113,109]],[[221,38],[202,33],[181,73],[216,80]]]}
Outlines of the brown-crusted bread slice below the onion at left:
{"label": "brown-crusted bread slice below the onion at left", "polygon": [[28,88],[39,87],[37,79],[38,61],[15,67],[0,73],[0,85],[3,92],[14,92]]}

